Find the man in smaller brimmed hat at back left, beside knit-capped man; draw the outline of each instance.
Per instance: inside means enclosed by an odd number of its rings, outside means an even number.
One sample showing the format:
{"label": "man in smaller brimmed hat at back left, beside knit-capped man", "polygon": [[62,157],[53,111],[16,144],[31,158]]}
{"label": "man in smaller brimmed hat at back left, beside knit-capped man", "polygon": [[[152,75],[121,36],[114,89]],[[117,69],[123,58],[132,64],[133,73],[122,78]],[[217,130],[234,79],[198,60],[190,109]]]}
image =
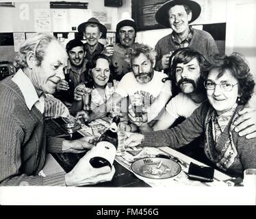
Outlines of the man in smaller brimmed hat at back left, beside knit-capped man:
{"label": "man in smaller brimmed hat at back left, beside knit-capped man", "polygon": [[99,42],[99,39],[105,38],[107,28],[97,18],[90,18],[88,21],[81,23],[77,29],[86,38],[84,44],[86,60],[90,61],[93,55],[103,53],[104,45]]}

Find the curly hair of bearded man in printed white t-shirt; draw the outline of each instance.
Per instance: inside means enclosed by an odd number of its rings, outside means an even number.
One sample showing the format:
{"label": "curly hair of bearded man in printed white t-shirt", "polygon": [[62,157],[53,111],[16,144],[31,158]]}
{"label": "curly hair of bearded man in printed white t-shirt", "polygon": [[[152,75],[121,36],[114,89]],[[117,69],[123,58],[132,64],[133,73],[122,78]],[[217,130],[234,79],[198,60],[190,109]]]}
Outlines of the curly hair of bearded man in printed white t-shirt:
{"label": "curly hair of bearded man in printed white t-shirt", "polygon": [[140,53],[146,55],[151,61],[151,64],[155,62],[157,52],[146,44],[134,43],[130,48],[127,49],[125,55],[127,56],[126,61],[131,64],[131,61],[138,57]]}

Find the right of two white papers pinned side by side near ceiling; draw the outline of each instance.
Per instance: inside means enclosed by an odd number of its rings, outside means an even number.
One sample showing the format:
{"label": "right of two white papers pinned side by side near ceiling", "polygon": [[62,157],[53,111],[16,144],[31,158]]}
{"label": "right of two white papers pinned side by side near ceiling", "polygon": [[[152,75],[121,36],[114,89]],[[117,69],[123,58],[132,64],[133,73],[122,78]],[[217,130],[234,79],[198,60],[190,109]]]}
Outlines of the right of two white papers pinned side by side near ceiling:
{"label": "right of two white papers pinned side by side near ceiling", "polygon": [[53,30],[54,32],[69,31],[69,23],[67,11],[64,9],[56,9],[53,13]]}

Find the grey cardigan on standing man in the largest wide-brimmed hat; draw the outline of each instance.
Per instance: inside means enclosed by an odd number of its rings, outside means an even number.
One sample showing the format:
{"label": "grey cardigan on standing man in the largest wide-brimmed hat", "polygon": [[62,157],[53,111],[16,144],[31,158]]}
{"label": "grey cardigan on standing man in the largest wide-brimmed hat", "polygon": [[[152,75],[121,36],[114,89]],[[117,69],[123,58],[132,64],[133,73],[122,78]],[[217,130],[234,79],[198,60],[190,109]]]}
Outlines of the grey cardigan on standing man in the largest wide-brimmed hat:
{"label": "grey cardigan on standing man in the largest wide-brimmed hat", "polygon": [[[172,34],[164,36],[155,45],[155,51],[157,51],[155,70],[162,70],[161,59],[163,55],[177,49],[171,35]],[[211,55],[218,53],[218,47],[216,45],[216,42],[214,41],[214,38],[207,31],[203,31],[200,29],[193,29],[193,36],[188,47],[190,49],[199,51],[199,53],[208,58],[211,57]]]}

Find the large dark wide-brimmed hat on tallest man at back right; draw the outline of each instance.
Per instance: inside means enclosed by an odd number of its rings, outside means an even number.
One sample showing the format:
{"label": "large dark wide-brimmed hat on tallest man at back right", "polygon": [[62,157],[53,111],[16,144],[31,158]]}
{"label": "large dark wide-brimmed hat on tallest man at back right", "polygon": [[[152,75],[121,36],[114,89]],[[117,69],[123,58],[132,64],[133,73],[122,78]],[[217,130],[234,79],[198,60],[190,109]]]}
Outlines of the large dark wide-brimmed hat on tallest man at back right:
{"label": "large dark wide-brimmed hat on tallest man at back right", "polygon": [[157,23],[164,27],[170,27],[169,19],[168,19],[168,11],[170,8],[172,8],[175,5],[187,5],[190,10],[192,11],[192,18],[189,21],[189,23],[192,23],[193,21],[196,20],[196,18],[199,17],[201,14],[201,6],[199,3],[196,3],[195,1],[190,1],[190,0],[172,0],[172,1],[167,1],[162,5],[157,12],[155,13],[155,20]]}

